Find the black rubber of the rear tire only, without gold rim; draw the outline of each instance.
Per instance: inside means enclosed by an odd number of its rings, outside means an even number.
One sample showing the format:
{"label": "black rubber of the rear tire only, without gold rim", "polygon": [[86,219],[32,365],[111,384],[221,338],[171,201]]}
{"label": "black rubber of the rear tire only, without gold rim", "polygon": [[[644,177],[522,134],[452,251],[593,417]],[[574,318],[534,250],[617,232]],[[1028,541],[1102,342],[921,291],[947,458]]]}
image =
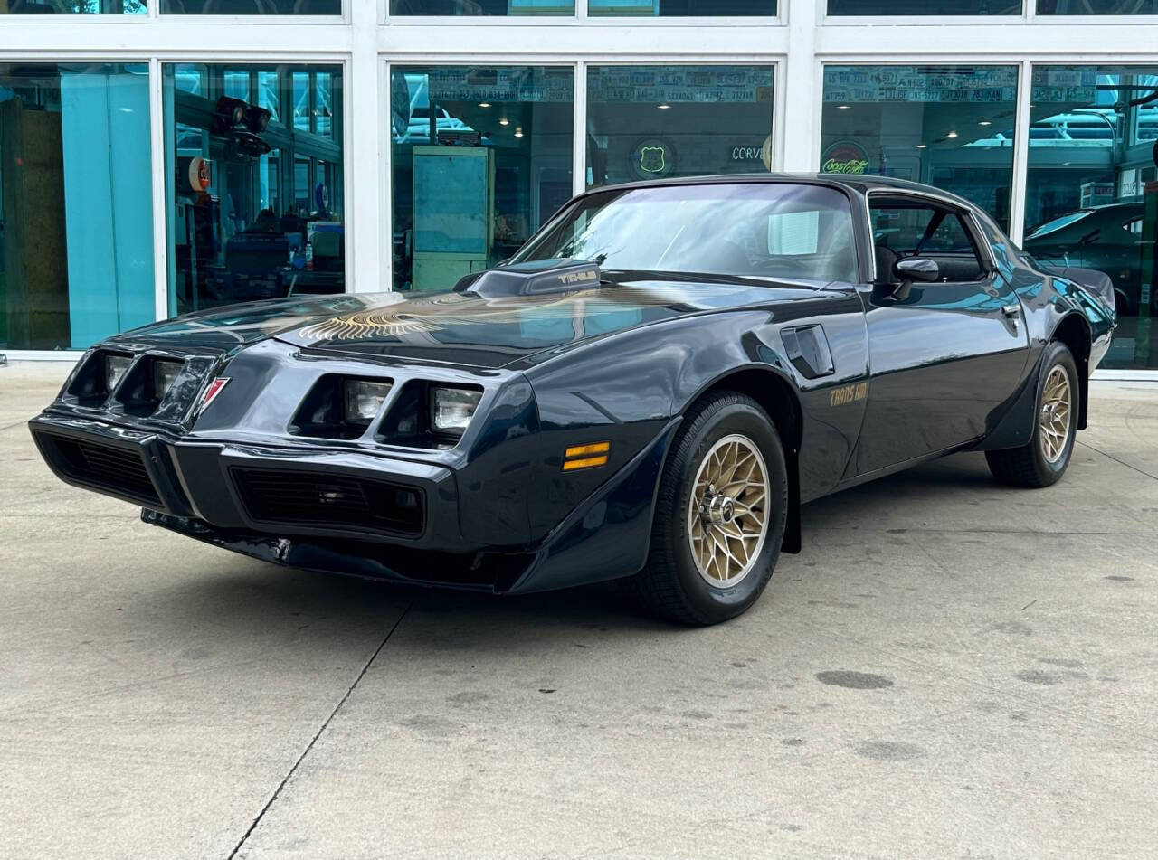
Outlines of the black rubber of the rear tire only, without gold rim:
{"label": "black rubber of the rear tire only, without gold rim", "polygon": [[[1043,431],[1039,418],[1043,410],[1046,381],[1055,369],[1060,369],[1068,377],[1070,407],[1065,443],[1057,458],[1050,462],[1043,450]],[[1048,487],[1050,484],[1056,484],[1057,479],[1065,473],[1065,468],[1070,464],[1070,456],[1073,454],[1080,406],[1079,397],[1077,363],[1073,361],[1069,347],[1055,340],[1046,347],[1041,361],[1041,370],[1038,376],[1038,397],[1034,400],[1033,411],[1033,435],[1029,443],[1020,448],[985,451],[985,462],[989,463],[989,471],[994,473],[994,477],[1003,484],[1019,487]]]}

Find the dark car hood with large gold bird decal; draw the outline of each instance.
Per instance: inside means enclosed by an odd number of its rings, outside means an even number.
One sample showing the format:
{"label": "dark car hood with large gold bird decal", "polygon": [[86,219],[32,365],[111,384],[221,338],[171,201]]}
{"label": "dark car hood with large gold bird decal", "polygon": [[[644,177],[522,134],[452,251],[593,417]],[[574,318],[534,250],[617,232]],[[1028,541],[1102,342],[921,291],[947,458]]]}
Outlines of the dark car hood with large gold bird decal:
{"label": "dark car hood with large gold bird decal", "polygon": [[819,292],[779,281],[643,278],[541,295],[345,294],[203,311],[113,341],[234,351],[278,338],[310,351],[493,368],[689,314],[815,299]]}

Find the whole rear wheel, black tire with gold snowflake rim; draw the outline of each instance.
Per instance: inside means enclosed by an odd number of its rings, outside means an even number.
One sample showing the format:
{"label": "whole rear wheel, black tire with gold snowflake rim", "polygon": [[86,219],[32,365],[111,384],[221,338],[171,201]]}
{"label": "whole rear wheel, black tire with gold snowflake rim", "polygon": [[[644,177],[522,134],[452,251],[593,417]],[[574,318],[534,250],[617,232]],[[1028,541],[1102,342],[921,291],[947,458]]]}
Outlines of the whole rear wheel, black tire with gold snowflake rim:
{"label": "whole rear wheel, black tire with gold snowflake rim", "polygon": [[1038,407],[1028,444],[985,451],[989,471],[1003,484],[1046,487],[1070,464],[1078,420],[1078,370],[1069,347],[1053,343],[1046,351],[1038,384]]}

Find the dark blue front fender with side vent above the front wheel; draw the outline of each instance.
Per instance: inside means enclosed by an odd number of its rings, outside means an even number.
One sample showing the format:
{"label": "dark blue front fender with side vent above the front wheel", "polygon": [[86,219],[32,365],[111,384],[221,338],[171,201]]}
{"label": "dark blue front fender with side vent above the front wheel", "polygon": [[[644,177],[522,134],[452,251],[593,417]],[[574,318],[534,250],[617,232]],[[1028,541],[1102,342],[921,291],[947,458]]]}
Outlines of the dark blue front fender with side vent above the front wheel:
{"label": "dark blue front fender with side vent above the front wheel", "polygon": [[[860,429],[864,398],[834,398],[833,389],[848,388],[867,372],[864,313],[855,293],[801,295],[629,330],[527,368],[552,451],[536,472],[542,503],[532,510],[532,532],[545,535],[607,478],[599,470],[560,472],[565,447],[608,440],[611,465],[622,466],[691,403],[710,390],[735,388],[740,377],[746,381],[739,390],[774,412],[775,402],[753,384],[754,373],[767,375],[767,392],[780,385],[799,404],[801,426],[785,447],[799,440],[800,498],[835,487]],[[823,328],[831,373],[806,378],[785,359],[780,330],[786,324]]]}

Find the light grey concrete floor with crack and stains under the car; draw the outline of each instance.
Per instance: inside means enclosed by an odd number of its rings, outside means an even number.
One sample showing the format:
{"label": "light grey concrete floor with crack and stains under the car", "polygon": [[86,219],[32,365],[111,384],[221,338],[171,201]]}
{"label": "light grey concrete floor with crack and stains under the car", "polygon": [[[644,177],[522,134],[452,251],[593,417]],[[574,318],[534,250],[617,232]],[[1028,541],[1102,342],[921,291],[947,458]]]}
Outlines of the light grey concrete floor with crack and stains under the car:
{"label": "light grey concrete floor with crack and stains under the car", "polygon": [[1158,855],[1158,390],[1064,482],[805,509],[709,630],[280,569],[39,462],[0,368],[5,858]]}

